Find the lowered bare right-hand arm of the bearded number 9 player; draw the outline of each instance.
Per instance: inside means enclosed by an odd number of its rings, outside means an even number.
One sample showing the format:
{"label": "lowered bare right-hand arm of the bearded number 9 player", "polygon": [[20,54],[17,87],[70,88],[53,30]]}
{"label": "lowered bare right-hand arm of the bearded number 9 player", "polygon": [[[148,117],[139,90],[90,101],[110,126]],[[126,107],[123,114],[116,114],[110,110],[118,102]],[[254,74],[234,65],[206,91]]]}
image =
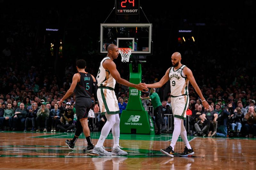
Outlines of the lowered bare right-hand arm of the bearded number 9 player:
{"label": "lowered bare right-hand arm of the bearded number 9 player", "polygon": [[184,67],[183,69],[184,74],[187,76],[188,80],[190,81],[191,85],[194,87],[194,89],[196,90],[197,94],[199,95],[199,97],[202,100],[202,104],[204,106],[204,108],[208,109],[208,102],[204,99],[204,96],[200,90],[200,88],[198,87],[198,85],[196,84],[196,80],[193,76],[192,71],[188,68],[188,67]]}

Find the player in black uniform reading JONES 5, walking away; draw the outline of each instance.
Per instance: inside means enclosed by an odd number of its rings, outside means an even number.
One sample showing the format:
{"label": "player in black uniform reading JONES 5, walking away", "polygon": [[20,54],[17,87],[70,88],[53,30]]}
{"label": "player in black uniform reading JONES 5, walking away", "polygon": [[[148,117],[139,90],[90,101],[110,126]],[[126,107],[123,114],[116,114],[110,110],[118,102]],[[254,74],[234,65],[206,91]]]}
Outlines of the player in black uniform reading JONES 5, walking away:
{"label": "player in black uniform reading JONES 5, walking away", "polygon": [[84,152],[91,152],[94,148],[92,144],[92,139],[90,137],[90,129],[88,127],[88,113],[92,107],[92,93],[94,94],[94,112],[97,113],[99,111],[98,106],[98,98],[97,98],[97,83],[95,78],[88,72],[85,71],[86,62],[83,59],[76,61],[76,69],[78,73],[74,74],[72,79],[72,84],[68,89],[67,93],[60,100],[59,105],[74,91],[76,92],[76,132],[75,136],[72,140],[66,140],[66,144],[69,149],[74,149],[75,142],[77,138],[80,136],[82,131],[84,132],[84,136],[86,137],[88,146],[84,149]]}

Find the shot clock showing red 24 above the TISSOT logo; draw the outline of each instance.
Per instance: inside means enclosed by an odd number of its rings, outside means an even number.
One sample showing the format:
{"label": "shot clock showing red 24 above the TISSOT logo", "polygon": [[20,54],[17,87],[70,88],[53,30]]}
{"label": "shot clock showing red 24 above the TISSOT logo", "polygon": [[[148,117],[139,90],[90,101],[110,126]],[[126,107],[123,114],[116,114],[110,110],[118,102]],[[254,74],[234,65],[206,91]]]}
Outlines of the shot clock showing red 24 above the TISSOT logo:
{"label": "shot clock showing red 24 above the TISSOT logo", "polygon": [[116,14],[139,14],[140,0],[116,0]]}

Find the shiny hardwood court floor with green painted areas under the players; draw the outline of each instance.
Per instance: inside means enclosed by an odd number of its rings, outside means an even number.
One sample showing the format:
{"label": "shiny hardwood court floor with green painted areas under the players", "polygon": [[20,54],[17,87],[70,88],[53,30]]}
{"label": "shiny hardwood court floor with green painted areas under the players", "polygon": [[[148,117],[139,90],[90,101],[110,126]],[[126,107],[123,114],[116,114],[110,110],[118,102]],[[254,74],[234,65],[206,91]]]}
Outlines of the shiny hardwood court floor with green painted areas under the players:
{"label": "shiny hardwood court floor with green painted areas under the players", "polygon": [[[256,169],[256,140],[239,138],[189,137],[195,151],[193,157],[167,157],[159,150],[170,144],[171,134],[121,134],[120,143],[128,156],[99,156],[85,154],[84,136],[76,141],[75,150],[69,150],[65,140],[74,133],[0,132],[0,170],[151,170],[151,169]],[[96,144],[99,132],[92,132]],[[111,151],[112,134],[104,146]],[[183,152],[179,141],[175,152]]]}

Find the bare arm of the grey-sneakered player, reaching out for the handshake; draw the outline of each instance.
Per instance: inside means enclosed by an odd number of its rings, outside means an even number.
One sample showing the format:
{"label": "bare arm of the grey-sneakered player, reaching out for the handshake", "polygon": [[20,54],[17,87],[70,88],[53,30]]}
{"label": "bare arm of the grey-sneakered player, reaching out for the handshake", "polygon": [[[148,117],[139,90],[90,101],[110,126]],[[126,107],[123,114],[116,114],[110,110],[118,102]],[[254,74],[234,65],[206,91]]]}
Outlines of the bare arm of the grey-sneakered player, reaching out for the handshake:
{"label": "bare arm of the grey-sneakered player, reaching out for the handshake", "polygon": [[110,74],[112,75],[113,78],[115,78],[115,80],[122,84],[122,85],[126,85],[128,87],[134,87],[140,91],[142,90],[147,90],[148,91],[148,88],[147,86],[145,85],[145,83],[140,83],[138,85],[135,85],[133,83],[130,83],[129,81],[121,78],[119,72],[116,70],[116,64],[112,61],[112,60],[105,60],[104,63],[102,64],[103,67],[108,70],[110,72]]}

